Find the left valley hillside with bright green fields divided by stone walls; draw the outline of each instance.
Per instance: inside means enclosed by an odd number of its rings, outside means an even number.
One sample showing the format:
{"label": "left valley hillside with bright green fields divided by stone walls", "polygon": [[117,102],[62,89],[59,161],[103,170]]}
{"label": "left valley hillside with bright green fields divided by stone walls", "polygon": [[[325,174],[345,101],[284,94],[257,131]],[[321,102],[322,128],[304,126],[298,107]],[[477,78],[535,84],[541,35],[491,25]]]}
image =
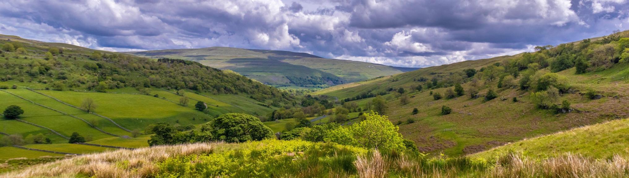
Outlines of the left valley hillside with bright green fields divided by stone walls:
{"label": "left valley hillside with bright green fields divided by stone walls", "polygon": [[[0,115],[3,160],[147,147],[143,134],[153,123],[191,130],[225,113],[264,118],[295,102],[277,88],[192,61],[6,35],[0,47],[0,110],[23,110],[17,118]],[[97,146],[67,144],[74,133]]]}

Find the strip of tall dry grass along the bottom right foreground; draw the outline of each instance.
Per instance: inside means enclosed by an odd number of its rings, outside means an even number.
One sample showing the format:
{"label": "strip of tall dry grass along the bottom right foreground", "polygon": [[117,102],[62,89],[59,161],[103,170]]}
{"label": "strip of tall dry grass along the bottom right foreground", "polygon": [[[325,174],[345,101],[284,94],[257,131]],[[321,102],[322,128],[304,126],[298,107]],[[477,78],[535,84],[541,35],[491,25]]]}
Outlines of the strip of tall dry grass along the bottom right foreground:
{"label": "strip of tall dry grass along the bottom right foreground", "polygon": [[[460,158],[459,158],[460,159]],[[493,162],[474,164],[460,160],[418,160],[409,157],[386,159],[374,154],[359,156],[355,162],[360,178],[373,177],[483,177],[483,178],[612,178],[629,177],[629,160],[588,159],[566,154],[549,159],[526,159],[520,154],[505,154]],[[485,164],[487,167],[482,167]]]}

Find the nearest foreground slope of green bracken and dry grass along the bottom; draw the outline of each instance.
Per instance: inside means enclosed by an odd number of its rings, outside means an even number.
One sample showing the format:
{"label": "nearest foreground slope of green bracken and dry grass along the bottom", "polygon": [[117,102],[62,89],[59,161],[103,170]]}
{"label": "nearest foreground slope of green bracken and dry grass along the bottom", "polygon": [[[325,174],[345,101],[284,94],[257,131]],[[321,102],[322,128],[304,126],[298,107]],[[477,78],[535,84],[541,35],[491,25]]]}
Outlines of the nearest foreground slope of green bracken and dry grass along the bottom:
{"label": "nearest foreground slope of green bracken and dry grass along the bottom", "polygon": [[[255,163],[255,164],[253,164]],[[622,157],[609,161],[567,155],[496,160],[427,159],[338,144],[263,140],[116,150],[0,174],[0,177],[627,177]]]}

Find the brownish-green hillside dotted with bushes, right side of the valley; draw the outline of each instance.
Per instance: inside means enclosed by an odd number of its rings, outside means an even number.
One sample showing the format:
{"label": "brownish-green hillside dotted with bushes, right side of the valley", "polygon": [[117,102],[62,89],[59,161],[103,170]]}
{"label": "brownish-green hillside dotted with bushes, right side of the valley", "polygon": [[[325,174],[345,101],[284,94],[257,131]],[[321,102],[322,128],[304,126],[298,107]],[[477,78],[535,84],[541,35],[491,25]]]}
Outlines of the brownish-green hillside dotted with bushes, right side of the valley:
{"label": "brownish-green hillside dotted with bushes, right side of the valley", "polygon": [[[533,53],[431,66],[311,94],[357,103],[362,110],[377,110],[373,97],[381,95],[386,100],[385,114],[420,150],[473,154],[525,138],[629,117],[625,107],[629,105],[629,63],[620,59],[623,50],[615,50],[629,48],[621,46],[628,33]],[[454,91],[457,84],[464,95]],[[548,92],[549,86],[559,91]],[[495,95],[486,99],[490,90]],[[433,94],[437,93],[441,97],[436,100]],[[570,112],[562,112],[564,100],[571,104],[566,105]],[[443,106],[452,112],[443,114]],[[412,113],[414,108],[417,114]]]}

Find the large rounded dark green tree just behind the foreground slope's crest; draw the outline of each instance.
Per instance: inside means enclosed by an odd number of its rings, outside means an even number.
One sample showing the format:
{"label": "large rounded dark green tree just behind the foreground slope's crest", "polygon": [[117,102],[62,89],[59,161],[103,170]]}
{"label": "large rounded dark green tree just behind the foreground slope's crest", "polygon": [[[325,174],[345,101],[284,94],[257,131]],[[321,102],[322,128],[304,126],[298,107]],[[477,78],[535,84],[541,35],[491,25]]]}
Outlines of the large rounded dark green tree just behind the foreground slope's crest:
{"label": "large rounded dark green tree just behind the foreground slope's crest", "polygon": [[212,122],[212,135],[230,143],[263,140],[274,137],[269,127],[260,119],[243,113],[226,113]]}

